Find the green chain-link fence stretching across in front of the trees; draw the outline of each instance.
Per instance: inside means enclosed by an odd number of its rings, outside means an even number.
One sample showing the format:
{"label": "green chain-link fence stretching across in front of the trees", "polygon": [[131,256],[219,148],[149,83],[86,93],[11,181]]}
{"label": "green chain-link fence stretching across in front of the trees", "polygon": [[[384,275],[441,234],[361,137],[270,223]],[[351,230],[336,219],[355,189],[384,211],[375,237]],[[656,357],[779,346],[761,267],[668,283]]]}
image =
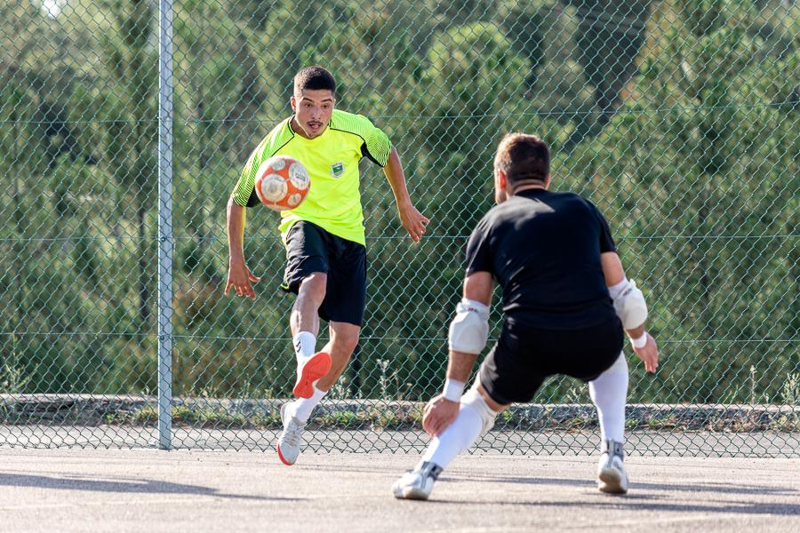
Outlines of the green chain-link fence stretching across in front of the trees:
{"label": "green chain-link fence stretching across in front of the trees", "polygon": [[[284,248],[276,213],[248,210],[258,299],[224,298],[225,205],[291,114],[294,73],[322,64],[337,107],[388,133],[432,223],[412,244],[364,164],[364,329],[311,449],[425,444],[493,151],[527,131],[554,152],[553,187],[604,212],[650,303],[663,361],[655,377],[631,362],[628,449],[797,455],[793,0],[34,0],[0,15],[0,442],[271,448],[295,372]],[[480,447],[596,449],[585,386],[552,379],[534,402]]]}

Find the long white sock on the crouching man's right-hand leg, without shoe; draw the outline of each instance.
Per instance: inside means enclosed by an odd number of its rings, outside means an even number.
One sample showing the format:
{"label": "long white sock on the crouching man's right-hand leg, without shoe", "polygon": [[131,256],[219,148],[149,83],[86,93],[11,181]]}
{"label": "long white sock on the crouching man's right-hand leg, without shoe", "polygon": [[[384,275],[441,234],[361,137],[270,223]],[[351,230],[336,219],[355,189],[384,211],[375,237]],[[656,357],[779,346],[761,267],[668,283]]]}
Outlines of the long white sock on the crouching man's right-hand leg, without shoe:
{"label": "long white sock on the crouching man's right-hand leg, without shoe", "polygon": [[620,354],[611,368],[589,381],[589,395],[597,408],[600,438],[624,442],[625,402],[628,397],[628,362],[625,361],[625,354]]}

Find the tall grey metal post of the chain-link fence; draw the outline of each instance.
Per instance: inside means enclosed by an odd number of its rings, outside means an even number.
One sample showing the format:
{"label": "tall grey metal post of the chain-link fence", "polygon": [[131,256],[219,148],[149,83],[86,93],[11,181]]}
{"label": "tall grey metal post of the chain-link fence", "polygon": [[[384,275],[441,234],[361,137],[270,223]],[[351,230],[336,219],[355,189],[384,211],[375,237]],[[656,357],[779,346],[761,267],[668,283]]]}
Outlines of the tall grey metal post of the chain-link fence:
{"label": "tall grey metal post of the chain-link fence", "polygon": [[172,0],[158,10],[158,448],[172,448]]}

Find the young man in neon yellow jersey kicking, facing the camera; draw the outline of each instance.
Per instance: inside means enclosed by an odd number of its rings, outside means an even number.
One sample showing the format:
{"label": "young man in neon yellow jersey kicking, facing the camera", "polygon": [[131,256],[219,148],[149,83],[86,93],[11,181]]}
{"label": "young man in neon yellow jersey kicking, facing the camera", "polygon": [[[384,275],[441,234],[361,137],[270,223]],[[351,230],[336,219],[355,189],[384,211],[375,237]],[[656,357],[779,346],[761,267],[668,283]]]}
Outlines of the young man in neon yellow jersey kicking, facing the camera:
{"label": "young man in neon yellow jersey kicking, facing the camera", "polygon": [[[280,232],[288,265],[281,286],[297,294],[290,326],[297,355],[298,399],[281,407],[284,431],[278,457],[292,465],[311,411],[347,367],[358,344],[366,302],[364,215],[358,162],[367,157],[383,168],[395,194],[400,221],[416,243],[428,224],[405,187],[403,166],[387,135],[362,115],[335,109],[336,83],[321,67],[294,76],[294,115],[269,132],[252,152],[228,201],[228,284],[225,294],[255,298],[254,276],[244,259],[245,207],[259,203],[256,171],[273,155],[289,155],[308,170],[311,188],[297,209],[281,212]],[[328,321],[330,341],[316,350],[319,318]]]}

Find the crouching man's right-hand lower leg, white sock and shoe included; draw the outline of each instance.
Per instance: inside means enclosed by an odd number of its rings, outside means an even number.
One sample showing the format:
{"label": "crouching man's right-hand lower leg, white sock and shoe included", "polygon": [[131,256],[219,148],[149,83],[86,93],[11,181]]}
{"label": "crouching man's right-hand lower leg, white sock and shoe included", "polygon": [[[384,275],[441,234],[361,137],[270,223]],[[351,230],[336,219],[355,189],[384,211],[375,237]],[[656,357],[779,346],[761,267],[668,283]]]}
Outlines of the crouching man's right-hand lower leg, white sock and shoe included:
{"label": "crouching man's right-hand lower leg, white sock and shoe included", "polygon": [[625,403],[628,396],[628,362],[620,354],[612,366],[589,382],[589,394],[597,408],[603,441],[597,486],[603,492],[628,492],[628,474],[622,463],[625,442]]}

